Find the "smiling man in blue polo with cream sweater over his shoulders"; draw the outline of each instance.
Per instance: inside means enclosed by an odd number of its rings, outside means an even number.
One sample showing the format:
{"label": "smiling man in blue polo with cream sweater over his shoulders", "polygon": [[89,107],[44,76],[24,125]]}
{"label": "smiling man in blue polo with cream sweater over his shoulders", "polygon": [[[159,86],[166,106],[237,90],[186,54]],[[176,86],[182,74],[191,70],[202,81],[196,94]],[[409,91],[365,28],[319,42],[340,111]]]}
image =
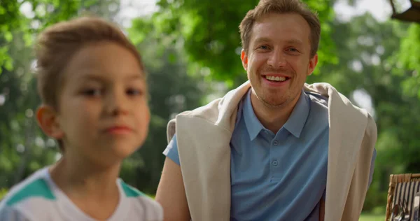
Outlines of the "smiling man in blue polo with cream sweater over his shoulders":
{"label": "smiling man in blue polo with cream sweater over his shoulders", "polygon": [[377,128],[331,85],[305,83],[318,17],[261,0],[239,29],[248,82],[168,124],[165,220],[358,220]]}

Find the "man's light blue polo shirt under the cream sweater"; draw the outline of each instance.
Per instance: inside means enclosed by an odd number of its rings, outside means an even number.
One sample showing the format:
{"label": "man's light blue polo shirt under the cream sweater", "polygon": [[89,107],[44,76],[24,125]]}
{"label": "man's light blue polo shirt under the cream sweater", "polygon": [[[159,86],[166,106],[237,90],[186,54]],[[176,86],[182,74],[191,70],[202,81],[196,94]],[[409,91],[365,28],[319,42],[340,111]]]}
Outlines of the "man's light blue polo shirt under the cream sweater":
{"label": "man's light blue polo shirt under the cream sweater", "polygon": [[[230,147],[230,220],[318,220],[327,178],[325,97],[302,91],[288,121],[274,134],[255,116],[249,90],[239,104]],[[180,164],[176,136],[164,154]],[[372,172],[373,166],[371,177]]]}

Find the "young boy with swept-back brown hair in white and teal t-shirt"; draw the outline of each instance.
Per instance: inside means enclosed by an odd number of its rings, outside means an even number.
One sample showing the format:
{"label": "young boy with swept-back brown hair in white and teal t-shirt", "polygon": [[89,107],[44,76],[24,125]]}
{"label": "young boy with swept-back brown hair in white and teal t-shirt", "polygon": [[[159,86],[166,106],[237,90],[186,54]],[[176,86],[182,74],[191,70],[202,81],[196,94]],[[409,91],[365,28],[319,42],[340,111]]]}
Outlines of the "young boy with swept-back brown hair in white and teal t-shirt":
{"label": "young boy with swept-back brown hair in white and teal t-shirt", "polygon": [[120,29],[83,17],[38,38],[36,120],[62,158],[13,187],[0,220],[163,220],[160,204],[118,178],[148,134],[146,73]]}

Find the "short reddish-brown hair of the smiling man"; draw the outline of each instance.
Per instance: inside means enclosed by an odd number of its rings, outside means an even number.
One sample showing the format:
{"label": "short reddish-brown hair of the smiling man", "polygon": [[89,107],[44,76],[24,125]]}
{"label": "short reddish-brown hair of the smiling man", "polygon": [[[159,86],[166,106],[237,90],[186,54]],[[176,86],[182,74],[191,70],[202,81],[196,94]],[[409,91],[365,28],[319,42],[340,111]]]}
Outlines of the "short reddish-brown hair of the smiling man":
{"label": "short reddish-brown hair of the smiling man", "polygon": [[242,47],[248,52],[249,41],[251,40],[252,28],[255,22],[259,21],[264,15],[269,13],[296,13],[306,20],[311,29],[309,41],[311,43],[310,56],[314,57],[318,51],[319,38],[321,36],[321,24],[318,15],[312,13],[307,5],[300,0],[260,0],[258,5],[246,13],[239,25],[241,33]]}

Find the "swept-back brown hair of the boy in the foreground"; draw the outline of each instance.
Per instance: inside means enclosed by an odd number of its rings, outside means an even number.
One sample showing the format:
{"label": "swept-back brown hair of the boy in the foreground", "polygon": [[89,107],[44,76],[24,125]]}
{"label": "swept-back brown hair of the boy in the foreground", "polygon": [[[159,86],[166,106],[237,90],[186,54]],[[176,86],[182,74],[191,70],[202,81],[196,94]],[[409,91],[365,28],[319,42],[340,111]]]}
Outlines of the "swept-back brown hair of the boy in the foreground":
{"label": "swept-back brown hair of the boy in the foreground", "polygon": [[[36,42],[36,77],[38,94],[43,104],[59,111],[59,94],[64,83],[64,69],[71,58],[92,43],[112,42],[127,48],[137,58],[144,71],[141,56],[115,24],[99,17],[80,17],[59,22],[45,29]],[[144,71],[144,74],[146,71]],[[62,141],[58,141],[63,152]]]}

